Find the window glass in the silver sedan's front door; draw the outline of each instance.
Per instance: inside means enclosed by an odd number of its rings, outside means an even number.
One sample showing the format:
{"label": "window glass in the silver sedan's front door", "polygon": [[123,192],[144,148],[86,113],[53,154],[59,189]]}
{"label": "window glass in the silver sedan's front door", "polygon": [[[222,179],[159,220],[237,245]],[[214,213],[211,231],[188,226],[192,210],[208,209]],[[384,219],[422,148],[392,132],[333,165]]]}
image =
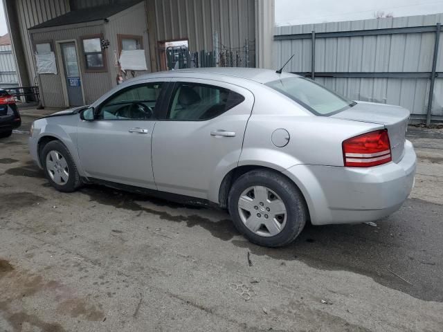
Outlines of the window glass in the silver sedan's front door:
{"label": "window glass in the silver sedan's front door", "polygon": [[102,104],[99,120],[150,120],[159,101],[162,83],[147,83],[118,91]]}

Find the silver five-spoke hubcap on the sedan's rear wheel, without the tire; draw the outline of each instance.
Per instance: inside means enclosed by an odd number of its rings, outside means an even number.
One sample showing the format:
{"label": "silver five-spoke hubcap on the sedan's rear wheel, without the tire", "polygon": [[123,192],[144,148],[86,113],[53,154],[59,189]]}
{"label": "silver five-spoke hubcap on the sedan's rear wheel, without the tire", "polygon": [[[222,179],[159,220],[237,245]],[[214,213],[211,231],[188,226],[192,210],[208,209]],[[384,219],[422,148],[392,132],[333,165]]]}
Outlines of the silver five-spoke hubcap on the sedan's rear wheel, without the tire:
{"label": "silver five-spoke hubcap on the sedan's rear wheel, without the tire", "polygon": [[238,212],[248,230],[261,237],[273,237],[286,225],[286,205],[278,194],[262,185],[248,187],[242,192]]}

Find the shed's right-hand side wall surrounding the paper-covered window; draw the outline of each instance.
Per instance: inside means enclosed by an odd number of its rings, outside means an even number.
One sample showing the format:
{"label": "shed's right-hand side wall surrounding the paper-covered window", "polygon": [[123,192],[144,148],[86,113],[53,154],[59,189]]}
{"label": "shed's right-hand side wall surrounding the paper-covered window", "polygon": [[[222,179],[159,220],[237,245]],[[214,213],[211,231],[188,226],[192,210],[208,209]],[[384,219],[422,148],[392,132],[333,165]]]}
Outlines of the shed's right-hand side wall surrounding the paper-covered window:
{"label": "shed's right-hand side wall surrounding the paper-covered window", "polygon": [[[137,35],[143,37],[143,48],[145,49],[146,64],[148,72],[150,72],[150,47],[147,38],[146,12],[145,3],[141,2],[132,6],[123,12],[120,12],[109,18],[109,23],[105,25],[105,39],[109,39],[108,48],[108,68],[111,72],[112,86],[117,85],[116,79],[117,68],[114,66],[114,50],[118,50],[117,35]],[[120,55],[118,55],[120,56]],[[145,72],[139,71],[137,76],[143,75]]]}

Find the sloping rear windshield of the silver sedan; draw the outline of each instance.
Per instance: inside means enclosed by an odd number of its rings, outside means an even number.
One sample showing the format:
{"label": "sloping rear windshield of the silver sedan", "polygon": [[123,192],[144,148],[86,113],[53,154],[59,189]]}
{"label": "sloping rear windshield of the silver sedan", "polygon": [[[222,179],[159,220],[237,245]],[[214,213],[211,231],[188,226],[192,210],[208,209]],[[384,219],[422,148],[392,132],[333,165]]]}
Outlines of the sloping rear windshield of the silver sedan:
{"label": "sloping rear windshield of the silver sedan", "polygon": [[318,116],[330,116],[356,104],[304,77],[284,78],[266,85]]}

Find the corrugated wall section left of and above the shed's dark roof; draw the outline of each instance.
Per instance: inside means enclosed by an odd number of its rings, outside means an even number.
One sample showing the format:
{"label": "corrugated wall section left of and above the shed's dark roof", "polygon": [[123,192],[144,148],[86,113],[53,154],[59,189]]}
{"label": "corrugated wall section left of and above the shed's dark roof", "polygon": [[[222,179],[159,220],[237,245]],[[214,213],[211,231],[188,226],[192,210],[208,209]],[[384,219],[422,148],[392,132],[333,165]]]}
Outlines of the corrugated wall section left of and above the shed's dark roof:
{"label": "corrugated wall section left of and above the shed's dark roof", "polygon": [[24,53],[26,55],[26,66],[31,81],[30,84],[34,84],[35,59],[33,56],[33,47],[31,46],[28,28],[69,12],[69,0],[15,1],[17,6],[17,19],[19,21],[21,40],[23,41]]}

